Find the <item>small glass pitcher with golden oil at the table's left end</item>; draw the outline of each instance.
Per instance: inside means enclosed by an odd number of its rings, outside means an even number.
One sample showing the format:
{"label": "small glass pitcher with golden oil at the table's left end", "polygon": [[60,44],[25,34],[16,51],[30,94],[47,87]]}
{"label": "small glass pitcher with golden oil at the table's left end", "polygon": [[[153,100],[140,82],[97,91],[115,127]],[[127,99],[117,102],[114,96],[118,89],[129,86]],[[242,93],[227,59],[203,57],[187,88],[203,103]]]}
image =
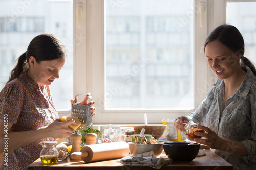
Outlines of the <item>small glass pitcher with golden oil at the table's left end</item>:
{"label": "small glass pitcher with golden oil at the table's left end", "polygon": [[[67,153],[65,150],[56,149],[57,141],[43,141],[40,145],[43,147],[40,152],[40,159],[44,164],[53,164],[58,160],[62,161],[66,158]],[[60,154],[61,153],[61,154]]]}

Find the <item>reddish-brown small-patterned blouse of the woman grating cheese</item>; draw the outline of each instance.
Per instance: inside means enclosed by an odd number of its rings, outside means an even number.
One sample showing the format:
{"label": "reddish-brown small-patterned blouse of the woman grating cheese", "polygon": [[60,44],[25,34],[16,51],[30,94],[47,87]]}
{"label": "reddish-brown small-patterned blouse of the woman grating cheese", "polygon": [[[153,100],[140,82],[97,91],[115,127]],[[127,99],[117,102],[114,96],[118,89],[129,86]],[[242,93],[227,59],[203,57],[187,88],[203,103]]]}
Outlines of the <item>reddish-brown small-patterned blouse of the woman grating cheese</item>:
{"label": "reddish-brown small-patterned blouse of the woman grating cheese", "polygon": [[[7,115],[7,116],[6,116]],[[40,90],[31,78],[21,75],[9,82],[0,92],[0,119],[8,118],[13,123],[10,132],[29,131],[44,127],[58,118],[58,113],[51,97],[49,86]],[[0,169],[27,169],[27,166],[40,157],[41,139],[12,151],[8,151],[8,164],[4,157]],[[6,166],[8,165],[8,166]]]}

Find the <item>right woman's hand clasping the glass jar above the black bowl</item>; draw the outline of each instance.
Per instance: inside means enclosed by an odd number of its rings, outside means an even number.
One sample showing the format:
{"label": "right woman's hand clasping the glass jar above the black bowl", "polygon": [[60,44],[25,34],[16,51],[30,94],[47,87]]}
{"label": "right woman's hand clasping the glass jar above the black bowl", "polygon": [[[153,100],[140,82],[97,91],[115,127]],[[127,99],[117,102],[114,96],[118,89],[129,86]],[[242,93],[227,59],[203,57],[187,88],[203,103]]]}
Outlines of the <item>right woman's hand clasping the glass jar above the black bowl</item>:
{"label": "right woman's hand clasping the glass jar above the black bowl", "polygon": [[195,138],[194,141],[197,143],[205,144],[212,149],[219,149],[223,143],[223,139],[219,137],[214,131],[210,128],[197,125],[198,128],[205,130],[207,133],[195,132],[195,135],[205,137],[206,139]]}

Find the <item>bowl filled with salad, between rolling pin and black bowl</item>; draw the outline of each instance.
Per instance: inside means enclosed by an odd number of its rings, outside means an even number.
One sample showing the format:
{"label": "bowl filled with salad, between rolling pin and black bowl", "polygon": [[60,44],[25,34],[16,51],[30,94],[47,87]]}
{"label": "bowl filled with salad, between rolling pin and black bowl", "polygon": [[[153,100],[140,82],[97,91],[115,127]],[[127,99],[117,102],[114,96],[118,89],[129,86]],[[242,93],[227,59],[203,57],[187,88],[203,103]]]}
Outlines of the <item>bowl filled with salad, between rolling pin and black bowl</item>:
{"label": "bowl filled with salad, between rolling pin and black bowl", "polygon": [[128,146],[131,155],[153,151],[155,157],[160,157],[163,152],[163,142],[157,142],[157,144],[136,144],[136,142],[129,142]]}

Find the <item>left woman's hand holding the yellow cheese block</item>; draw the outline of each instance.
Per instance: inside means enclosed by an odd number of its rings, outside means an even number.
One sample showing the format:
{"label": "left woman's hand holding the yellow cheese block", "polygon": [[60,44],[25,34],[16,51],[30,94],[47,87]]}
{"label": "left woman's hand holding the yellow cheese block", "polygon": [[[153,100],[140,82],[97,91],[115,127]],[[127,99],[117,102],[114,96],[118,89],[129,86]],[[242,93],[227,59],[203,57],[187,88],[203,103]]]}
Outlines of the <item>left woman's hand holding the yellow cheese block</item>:
{"label": "left woman's hand holding the yellow cheese block", "polygon": [[53,138],[64,138],[70,136],[74,130],[69,128],[69,125],[77,123],[72,120],[66,120],[65,122],[60,122],[60,118],[54,120],[51,124],[49,124],[45,129],[49,133],[50,137]]}

